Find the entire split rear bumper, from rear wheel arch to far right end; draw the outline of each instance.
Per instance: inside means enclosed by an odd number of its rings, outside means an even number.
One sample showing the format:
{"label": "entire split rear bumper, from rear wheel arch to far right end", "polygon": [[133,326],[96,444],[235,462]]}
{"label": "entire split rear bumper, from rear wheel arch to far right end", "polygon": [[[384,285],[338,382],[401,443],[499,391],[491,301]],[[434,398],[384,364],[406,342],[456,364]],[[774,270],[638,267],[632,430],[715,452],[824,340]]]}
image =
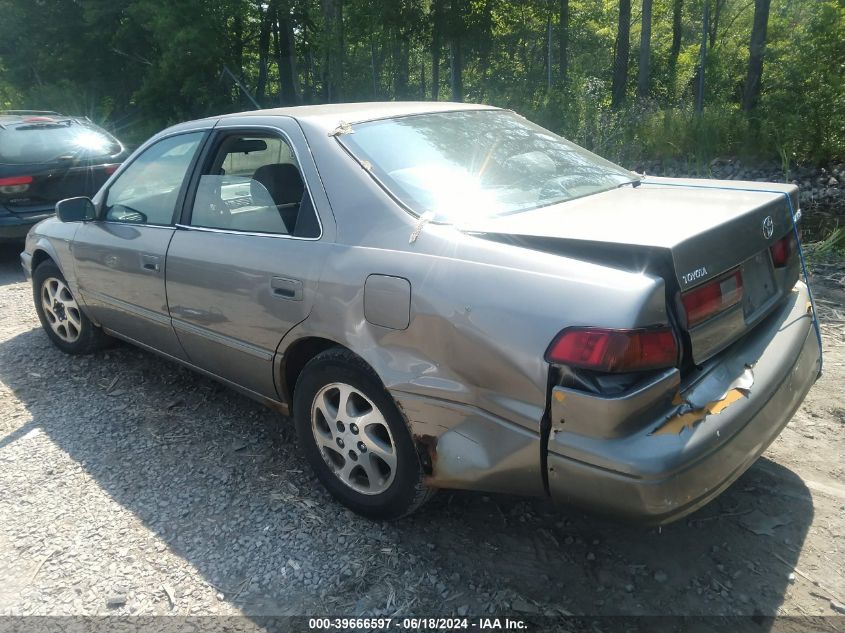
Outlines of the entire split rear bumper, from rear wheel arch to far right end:
{"label": "entire split rear bumper, from rear wheel arch to far right end", "polygon": [[806,286],[799,283],[775,314],[699,375],[683,384],[677,372],[658,377],[653,388],[660,393],[651,394],[656,405],[643,406],[648,398],[642,391],[627,403],[586,396],[595,402],[580,401],[583,419],[574,424],[572,417],[569,427],[553,397],[545,447],[541,410],[532,414],[536,431],[531,431],[525,419],[505,420],[429,396],[392,394],[408,421],[429,486],[548,492],[555,501],[666,523],[735,481],[804,400],[818,377],[820,356],[808,306]]}

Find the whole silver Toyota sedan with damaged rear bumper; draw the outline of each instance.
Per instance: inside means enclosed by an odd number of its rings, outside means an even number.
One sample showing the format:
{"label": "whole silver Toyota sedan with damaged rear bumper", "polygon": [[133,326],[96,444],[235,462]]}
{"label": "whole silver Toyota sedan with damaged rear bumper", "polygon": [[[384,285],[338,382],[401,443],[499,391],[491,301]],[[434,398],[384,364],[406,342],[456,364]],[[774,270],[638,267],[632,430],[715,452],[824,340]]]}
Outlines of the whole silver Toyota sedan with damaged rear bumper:
{"label": "whole silver Toyota sedan with damaged rear bumper", "polygon": [[308,106],[161,132],[21,257],[57,347],[123,339],[292,416],[356,512],[465,488],[659,523],[821,370],[797,201],[497,108]]}

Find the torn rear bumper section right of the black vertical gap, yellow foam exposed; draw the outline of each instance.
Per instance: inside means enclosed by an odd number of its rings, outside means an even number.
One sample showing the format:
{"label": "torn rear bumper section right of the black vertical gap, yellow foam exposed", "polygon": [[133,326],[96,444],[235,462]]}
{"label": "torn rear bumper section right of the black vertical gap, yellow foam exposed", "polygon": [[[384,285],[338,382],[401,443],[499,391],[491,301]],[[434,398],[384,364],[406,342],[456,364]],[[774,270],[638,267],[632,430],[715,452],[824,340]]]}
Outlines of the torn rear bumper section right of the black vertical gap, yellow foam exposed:
{"label": "torn rear bumper section right of the black vertical gap, yellow foam exposed", "polygon": [[[636,432],[552,433],[552,497],[650,523],[677,520],[716,497],[774,441],[818,377],[808,306],[799,283],[776,314],[694,384],[676,388],[674,403]],[[697,401],[701,390],[718,395]]]}

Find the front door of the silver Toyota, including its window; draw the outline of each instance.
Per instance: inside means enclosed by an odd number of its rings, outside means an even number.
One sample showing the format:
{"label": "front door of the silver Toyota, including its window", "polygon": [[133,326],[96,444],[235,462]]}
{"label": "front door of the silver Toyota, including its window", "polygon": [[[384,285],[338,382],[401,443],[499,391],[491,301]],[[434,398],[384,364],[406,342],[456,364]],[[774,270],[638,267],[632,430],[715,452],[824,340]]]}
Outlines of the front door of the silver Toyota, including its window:
{"label": "front door of the silver Toyota, including its window", "polygon": [[92,316],[180,359],[185,354],[170,324],[165,256],[205,135],[175,134],[147,147],[104,193],[100,219],[84,223],[73,243],[80,292]]}

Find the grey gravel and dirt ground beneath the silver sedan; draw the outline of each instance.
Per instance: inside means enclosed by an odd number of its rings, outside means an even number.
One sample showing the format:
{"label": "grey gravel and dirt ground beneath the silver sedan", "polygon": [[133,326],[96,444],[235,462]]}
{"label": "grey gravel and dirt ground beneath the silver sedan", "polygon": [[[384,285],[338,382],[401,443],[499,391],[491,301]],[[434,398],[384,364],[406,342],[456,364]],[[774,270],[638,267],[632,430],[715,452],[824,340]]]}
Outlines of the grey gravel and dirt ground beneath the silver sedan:
{"label": "grey gravel and dirt ground beneath the silver sedan", "polygon": [[444,492],[380,524],[334,503],[291,425],[250,400],[125,345],[56,350],[17,250],[0,250],[0,615],[834,615],[845,600],[841,315],[787,430],[688,519]]}

